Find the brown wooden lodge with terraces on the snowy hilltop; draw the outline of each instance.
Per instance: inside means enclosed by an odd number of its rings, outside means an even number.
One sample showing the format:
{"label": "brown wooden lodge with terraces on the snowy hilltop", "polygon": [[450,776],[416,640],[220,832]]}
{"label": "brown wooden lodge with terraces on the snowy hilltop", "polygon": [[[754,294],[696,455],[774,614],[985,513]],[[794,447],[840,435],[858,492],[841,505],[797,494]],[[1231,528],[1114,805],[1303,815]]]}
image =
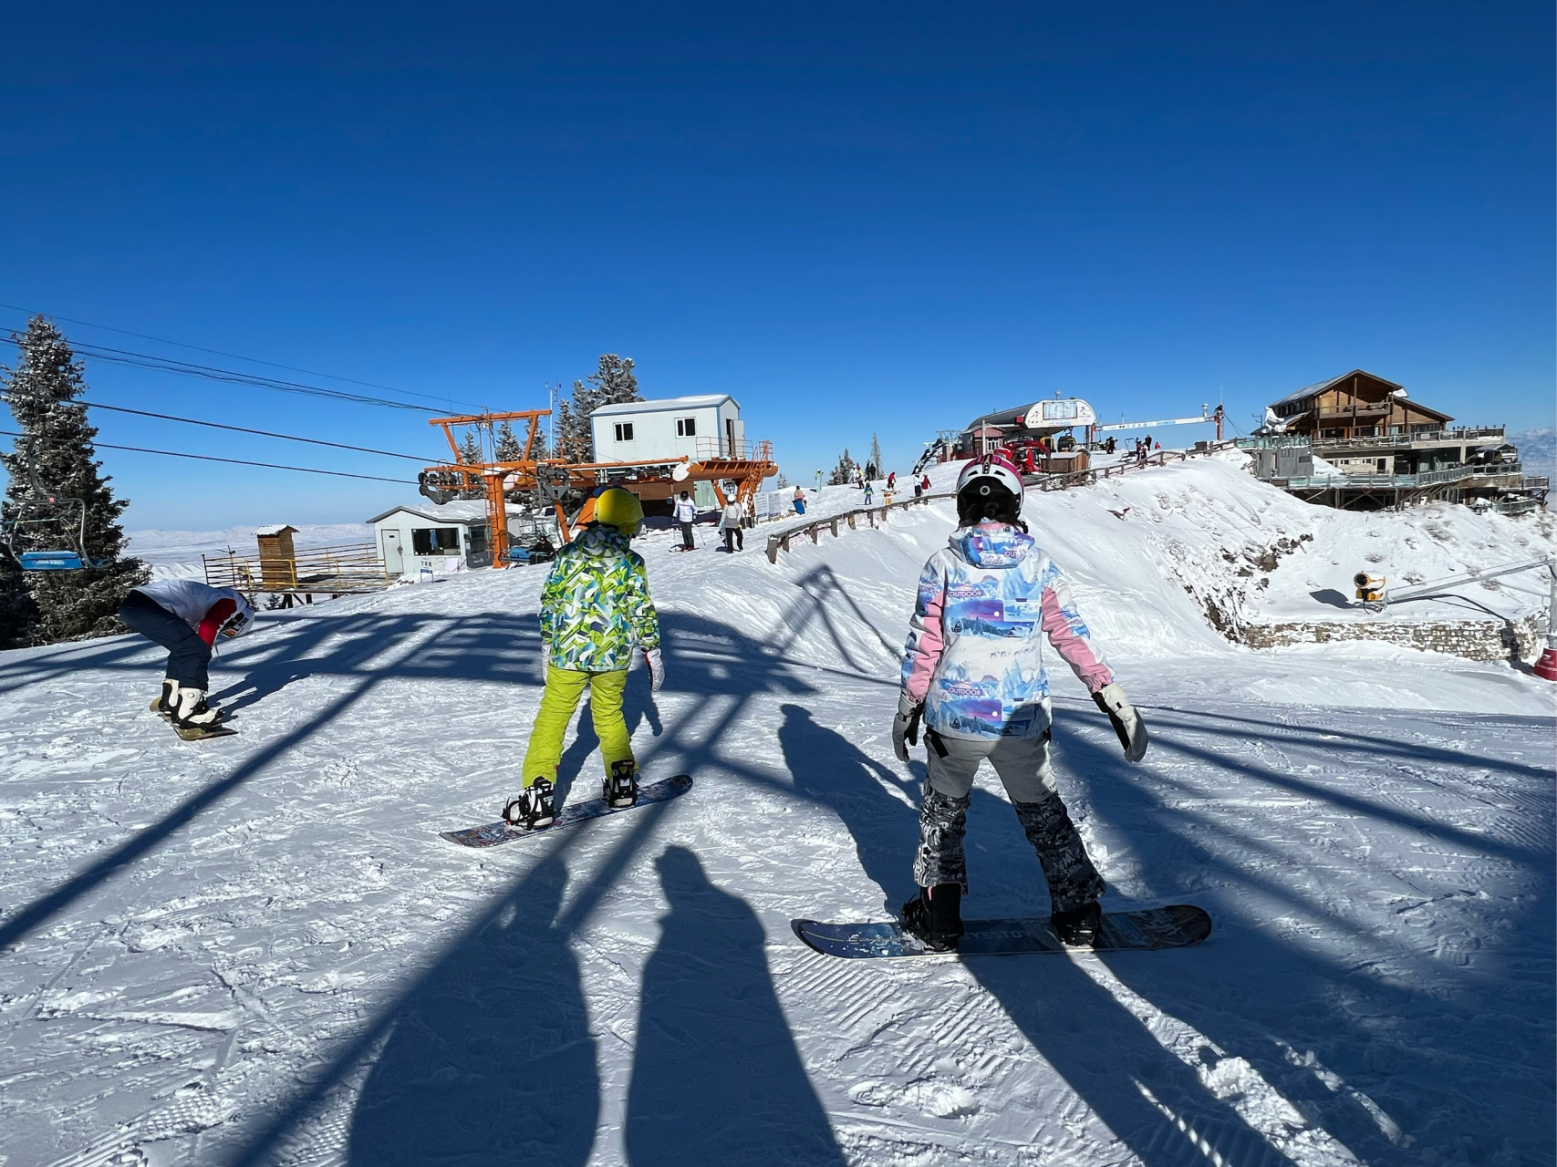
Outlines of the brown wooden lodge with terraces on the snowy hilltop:
{"label": "brown wooden lodge with terraces on the snowy hilltop", "polygon": [[[1404,386],[1353,369],[1272,403],[1247,445],[1255,473],[1311,503],[1356,510],[1426,499],[1507,512],[1541,506],[1548,481],[1521,473],[1503,426],[1454,428],[1453,420],[1411,400]],[[1333,470],[1316,473],[1305,459],[1303,476],[1289,476],[1295,462],[1278,454],[1292,445]]]}

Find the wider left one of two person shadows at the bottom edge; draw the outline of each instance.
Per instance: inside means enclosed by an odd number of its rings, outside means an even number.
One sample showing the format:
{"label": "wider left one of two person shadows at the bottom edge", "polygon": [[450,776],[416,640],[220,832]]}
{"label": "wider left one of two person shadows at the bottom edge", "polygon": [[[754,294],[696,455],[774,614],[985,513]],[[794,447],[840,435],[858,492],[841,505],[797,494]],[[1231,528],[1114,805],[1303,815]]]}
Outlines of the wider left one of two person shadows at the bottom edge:
{"label": "wider left one of two person shadows at the bottom edge", "polygon": [[565,885],[543,859],[400,1004],[352,1114],[352,1167],[589,1159],[599,1072],[556,921]]}

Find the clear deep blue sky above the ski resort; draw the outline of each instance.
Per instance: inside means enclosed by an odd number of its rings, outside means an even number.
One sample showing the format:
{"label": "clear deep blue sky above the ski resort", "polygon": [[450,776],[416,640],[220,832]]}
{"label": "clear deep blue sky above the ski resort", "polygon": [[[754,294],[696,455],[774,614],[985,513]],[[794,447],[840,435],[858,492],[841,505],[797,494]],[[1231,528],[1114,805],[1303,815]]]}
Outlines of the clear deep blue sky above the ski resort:
{"label": "clear deep blue sky above the ski resort", "polygon": [[[1557,412],[1549,5],[56,8],[8,16],[5,303],[494,409],[617,352],[649,397],[735,394],[791,478],[1056,391],[1249,428],[1361,366],[1467,423]],[[87,377],[438,450],[403,411]],[[131,527],[409,490],[104,461]]]}

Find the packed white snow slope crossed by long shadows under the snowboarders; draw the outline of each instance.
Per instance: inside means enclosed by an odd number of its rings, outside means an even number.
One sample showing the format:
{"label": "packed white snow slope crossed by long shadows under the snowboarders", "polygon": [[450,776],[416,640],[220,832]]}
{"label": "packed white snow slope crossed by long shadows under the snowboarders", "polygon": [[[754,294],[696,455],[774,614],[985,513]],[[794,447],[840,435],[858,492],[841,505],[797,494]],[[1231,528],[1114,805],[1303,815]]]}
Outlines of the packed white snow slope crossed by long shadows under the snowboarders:
{"label": "packed white snow slope crossed by long shadows under the snowboarders", "polygon": [[[641,538],[668,680],[629,722],[696,786],[489,851],[438,831],[517,781],[545,568],[265,613],[213,674],[238,736],[202,744],[146,711],[143,641],[0,655],[5,1165],[1552,1162],[1551,689],[1230,644],[1196,573],[1330,538],[1261,490],[1205,461],[1026,510],[1152,731],[1126,764],[1051,671],[1062,790],[1105,904],[1211,912],[1185,951],[793,937],[912,890],[923,755],[887,728],[947,504],[777,565]],[[565,797],[601,776],[576,733]],[[1042,915],[1003,798],[981,778],[965,912]]]}

